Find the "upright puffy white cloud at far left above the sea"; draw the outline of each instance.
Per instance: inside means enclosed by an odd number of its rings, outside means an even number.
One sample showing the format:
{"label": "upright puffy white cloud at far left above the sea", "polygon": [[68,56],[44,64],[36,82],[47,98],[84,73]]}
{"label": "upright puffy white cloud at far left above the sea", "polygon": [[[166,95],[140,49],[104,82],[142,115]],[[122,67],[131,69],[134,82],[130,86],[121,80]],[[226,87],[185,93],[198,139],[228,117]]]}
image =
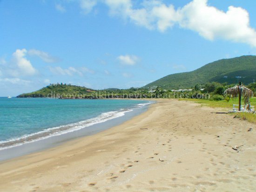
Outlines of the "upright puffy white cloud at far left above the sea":
{"label": "upright puffy white cloud at far left above the sea", "polygon": [[18,67],[18,71],[14,70],[13,74],[16,76],[18,73],[21,75],[35,75],[37,70],[32,66],[29,60],[25,57],[27,53],[26,49],[17,49],[13,53],[13,62],[14,65]]}

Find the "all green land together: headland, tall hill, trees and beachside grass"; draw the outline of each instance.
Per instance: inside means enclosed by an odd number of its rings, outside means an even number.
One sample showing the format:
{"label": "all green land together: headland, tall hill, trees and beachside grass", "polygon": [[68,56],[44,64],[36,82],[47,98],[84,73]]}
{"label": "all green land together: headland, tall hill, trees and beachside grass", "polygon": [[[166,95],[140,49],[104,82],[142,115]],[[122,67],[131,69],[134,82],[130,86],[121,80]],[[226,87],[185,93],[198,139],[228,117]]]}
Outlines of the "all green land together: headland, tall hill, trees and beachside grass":
{"label": "all green land together: headland, tall hill, trees and beachside grass", "polygon": [[[237,76],[241,78],[237,78]],[[218,60],[192,72],[168,75],[141,88],[93,90],[87,87],[58,83],[32,93],[23,93],[18,97],[61,99],[176,98],[200,103],[202,106],[232,109],[233,104],[238,104],[238,99],[223,95],[223,92],[237,85],[238,80],[241,80],[256,95],[256,83],[252,83],[254,79],[256,79],[256,56],[242,56]],[[189,87],[191,89],[180,89]],[[250,104],[256,106],[255,97],[250,99]],[[256,114],[237,113],[236,117],[256,122]]]}

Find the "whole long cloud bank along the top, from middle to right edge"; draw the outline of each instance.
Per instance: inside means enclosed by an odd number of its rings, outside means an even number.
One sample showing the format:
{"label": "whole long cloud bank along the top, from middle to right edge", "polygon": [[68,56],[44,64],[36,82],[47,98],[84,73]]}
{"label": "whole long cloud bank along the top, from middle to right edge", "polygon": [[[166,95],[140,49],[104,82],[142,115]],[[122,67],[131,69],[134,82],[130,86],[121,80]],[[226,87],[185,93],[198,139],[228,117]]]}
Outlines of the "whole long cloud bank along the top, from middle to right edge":
{"label": "whole long cloud bank along the top, from middle to right edge", "polygon": [[159,0],[143,1],[135,8],[132,0],[105,0],[112,16],[120,16],[139,26],[164,32],[172,26],[193,30],[207,40],[216,38],[256,46],[256,30],[250,27],[249,13],[241,7],[224,12],[208,5],[208,0],[192,0],[184,7]]}

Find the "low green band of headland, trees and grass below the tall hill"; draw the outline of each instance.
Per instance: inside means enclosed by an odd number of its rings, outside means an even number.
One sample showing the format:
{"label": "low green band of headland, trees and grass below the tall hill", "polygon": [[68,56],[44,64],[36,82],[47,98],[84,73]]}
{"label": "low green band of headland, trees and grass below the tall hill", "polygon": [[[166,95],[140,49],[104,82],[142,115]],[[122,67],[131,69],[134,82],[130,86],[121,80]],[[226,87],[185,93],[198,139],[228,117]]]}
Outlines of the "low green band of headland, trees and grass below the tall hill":
{"label": "low green band of headland, trees and grass below the tall hill", "polygon": [[[93,90],[81,86],[51,84],[38,91],[24,93],[18,97],[51,97],[61,99],[169,98],[192,101],[200,103],[202,106],[222,107],[231,110],[233,104],[238,104],[238,98],[230,98],[228,95],[223,95],[223,92],[233,86],[227,83],[211,82],[204,85],[196,84],[190,90],[167,90],[162,87],[153,87],[151,89],[131,87],[129,89],[110,88]],[[251,83],[249,86],[255,91],[256,83]],[[250,105],[256,107],[256,97],[250,99]],[[256,114],[237,113],[236,117],[256,122]]]}

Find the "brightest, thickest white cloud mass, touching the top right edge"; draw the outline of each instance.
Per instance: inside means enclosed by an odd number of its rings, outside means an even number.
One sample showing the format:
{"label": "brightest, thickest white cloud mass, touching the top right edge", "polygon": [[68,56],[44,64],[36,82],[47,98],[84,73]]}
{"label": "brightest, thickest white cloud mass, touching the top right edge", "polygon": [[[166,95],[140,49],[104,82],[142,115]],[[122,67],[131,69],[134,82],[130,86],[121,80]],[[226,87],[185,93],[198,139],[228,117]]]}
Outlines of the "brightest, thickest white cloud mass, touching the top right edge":
{"label": "brightest, thickest white cloud mass, touching the top right edge", "polygon": [[193,0],[177,12],[179,24],[198,32],[208,40],[222,38],[256,46],[256,31],[249,26],[249,13],[230,6],[225,13],[207,5],[207,0]]}

